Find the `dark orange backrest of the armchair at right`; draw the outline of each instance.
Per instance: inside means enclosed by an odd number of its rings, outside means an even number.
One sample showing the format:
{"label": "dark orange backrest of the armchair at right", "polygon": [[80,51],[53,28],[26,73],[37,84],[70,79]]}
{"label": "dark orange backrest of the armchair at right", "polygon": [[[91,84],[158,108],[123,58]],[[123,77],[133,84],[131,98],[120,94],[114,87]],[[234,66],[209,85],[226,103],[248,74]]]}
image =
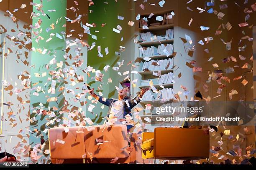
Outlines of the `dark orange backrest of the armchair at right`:
{"label": "dark orange backrest of the armchair at right", "polygon": [[155,128],[154,155],[171,160],[209,158],[210,135],[207,129]]}

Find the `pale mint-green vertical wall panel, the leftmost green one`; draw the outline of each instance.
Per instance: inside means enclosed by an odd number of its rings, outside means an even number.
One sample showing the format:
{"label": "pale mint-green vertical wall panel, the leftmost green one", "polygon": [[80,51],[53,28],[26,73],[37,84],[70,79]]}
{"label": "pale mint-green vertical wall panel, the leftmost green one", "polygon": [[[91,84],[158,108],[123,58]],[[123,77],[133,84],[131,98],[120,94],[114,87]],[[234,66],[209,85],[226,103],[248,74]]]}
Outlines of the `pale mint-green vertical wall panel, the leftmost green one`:
{"label": "pale mint-green vertical wall panel, the leftmost green one", "polygon": [[[41,3],[40,0],[33,0],[33,2],[35,3]],[[31,68],[31,88],[33,87],[37,87],[37,86],[41,86],[42,90],[44,90],[45,93],[43,93],[42,91],[38,92],[39,96],[35,96],[33,95],[33,92],[36,91],[35,90],[31,90],[31,115],[30,118],[32,117],[36,117],[36,121],[33,123],[30,123],[30,130],[33,131],[34,129],[38,129],[39,133],[30,133],[30,144],[31,147],[35,146],[37,143],[41,143],[40,142],[40,138],[41,136],[44,136],[44,140],[47,141],[48,140],[48,133],[44,133],[44,129],[45,128],[50,128],[50,127],[54,127],[54,125],[56,125],[56,121],[54,122],[53,125],[49,125],[48,127],[46,127],[45,123],[48,122],[49,120],[54,119],[54,117],[49,117],[49,115],[38,115],[37,113],[33,113],[34,110],[32,107],[41,107],[39,105],[39,103],[41,102],[45,109],[48,111],[48,107],[52,109],[53,106],[57,107],[57,108],[61,108],[63,106],[63,101],[64,101],[64,96],[62,94],[62,92],[58,92],[58,86],[64,86],[64,82],[63,82],[63,78],[60,79],[53,79],[53,80],[61,80],[60,82],[56,82],[56,94],[51,94],[48,93],[48,89],[51,87],[51,80],[47,81],[48,77],[52,77],[49,74],[49,71],[54,70],[54,71],[58,71],[59,68],[56,68],[56,64],[50,65],[49,69],[46,70],[45,65],[47,63],[49,63],[49,61],[54,57],[54,55],[56,56],[56,61],[57,63],[59,63],[60,61],[65,61],[63,55],[65,54],[64,51],[62,51],[61,49],[65,49],[65,41],[64,38],[59,39],[58,37],[56,37],[56,35],[52,36],[52,40],[50,40],[49,42],[46,42],[46,40],[50,37],[50,33],[54,33],[56,34],[56,32],[59,35],[62,35],[60,32],[64,31],[66,32],[66,27],[62,27],[64,24],[66,24],[66,19],[64,18],[64,16],[66,16],[66,7],[67,7],[67,0],[51,0],[49,2],[47,1],[43,1],[43,10],[44,13],[48,14],[49,17],[51,19],[49,19],[47,16],[40,16],[39,18],[41,18],[42,23],[41,23],[41,28],[39,29],[33,29],[33,31],[37,31],[38,32],[42,29],[41,33],[39,34],[41,37],[44,38],[44,40],[39,40],[39,43],[37,43],[35,40],[38,36],[36,36],[35,38],[32,38],[32,48],[36,48],[39,49],[41,48],[42,50],[44,49],[48,49],[46,54],[49,52],[49,50],[51,50],[49,55],[43,55],[40,54],[39,52],[32,52],[32,59],[31,59],[31,65],[34,65],[34,67]],[[55,9],[56,12],[48,12],[48,10],[52,10]],[[35,13],[40,13],[38,10],[36,10],[36,7],[33,6],[33,12]],[[62,17],[62,18],[61,18]],[[33,26],[35,25],[35,23],[38,22],[38,17],[34,17],[33,18]],[[61,20],[60,20],[61,18]],[[58,20],[58,23],[56,24],[56,21]],[[54,30],[50,30],[49,32],[46,32],[46,28],[51,28],[51,24],[55,25],[55,29]],[[33,34],[32,34],[33,35]],[[64,62],[65,65],[65,62]],[[63,65],[63,68],[64,68]],[[46,72],[46,76],[42,77],[42,72]],[[41,75],[41,77],[35,77],[35,73],[39,73]],[[46,85],[46,87],[44,87],[45,83],[48,83]],[[38,83],[37,85],[33,86],[34,83]],[[57,102],[46,102],[47,98],[46,96],[49,97],[58,97],[58,101]],[[59,117],[59,113],[57,113],[59,110],[56,110],[56,116]],[[46,120],[48,119],[48,121]],[[49,145],[48,142],[46,142],[46,146],[44,147],[43,150],[45,149],[49,149]],[[49,155],[46,155],[49,156]],[[41,157],[42,159],[42,157]],[[45,159],[45,158],[44,158]],[[38,161],[39,162],[39,161]],[[43,163],[43,162],[42,162]]]}

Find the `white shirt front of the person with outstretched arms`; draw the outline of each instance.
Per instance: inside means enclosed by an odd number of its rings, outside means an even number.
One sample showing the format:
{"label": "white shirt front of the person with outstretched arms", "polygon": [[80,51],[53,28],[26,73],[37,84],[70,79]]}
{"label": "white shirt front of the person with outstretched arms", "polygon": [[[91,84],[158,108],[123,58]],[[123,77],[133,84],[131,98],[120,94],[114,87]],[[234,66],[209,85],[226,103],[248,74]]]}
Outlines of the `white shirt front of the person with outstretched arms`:
{"label": "white shirt front of the person with outstretched arms", "polygon": [[117,117],[117,121],[114,123],[115,125],[122,124],[119,120],[123,119],[123,100],[117,100],[112,104],[109,118],[113,119],[113,117]]}

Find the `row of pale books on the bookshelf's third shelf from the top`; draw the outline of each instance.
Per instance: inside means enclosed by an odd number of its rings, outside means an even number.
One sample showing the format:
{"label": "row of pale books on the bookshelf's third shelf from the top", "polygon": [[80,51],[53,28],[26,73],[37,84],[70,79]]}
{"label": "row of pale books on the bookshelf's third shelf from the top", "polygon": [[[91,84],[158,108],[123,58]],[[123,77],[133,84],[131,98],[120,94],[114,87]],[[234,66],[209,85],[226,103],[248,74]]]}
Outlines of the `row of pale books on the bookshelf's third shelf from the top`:
{"label": "row of pale books on the bookshelf's third shelf from the top", "polygon": [[156,55],[171,55],[173,53],[173,45],[172,44],[161,44],[156,48],[155,46],[151,47],[141,47],[140,50],[140,57],[150,57]]}

